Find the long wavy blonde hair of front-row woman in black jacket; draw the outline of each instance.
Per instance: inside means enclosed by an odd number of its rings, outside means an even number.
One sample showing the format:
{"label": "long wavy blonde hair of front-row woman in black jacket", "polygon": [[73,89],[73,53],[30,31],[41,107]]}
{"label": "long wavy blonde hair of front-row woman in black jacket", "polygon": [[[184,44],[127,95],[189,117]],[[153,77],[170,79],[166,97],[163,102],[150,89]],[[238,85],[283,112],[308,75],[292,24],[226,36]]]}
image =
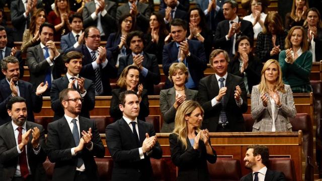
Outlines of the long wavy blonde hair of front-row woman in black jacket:
{"label": "long wavy blonde hair of front-row woman in black jacket", "polygon": [[[188,125],[187,120],[185,120],[185,116],[190,116],[191,113],[199,108],[201,110],[201,116],[203,117],[204,111],[200,104],[196,101],[188,100],[184,101],[178,108],[176,112],[176,118],[175,118],[175,129],[173,130],[173,133],[178,135],[178,141],[180,141],[183,145],[183,149],[188,148],[187,143],[187,135],[188,135]],[[196,128],[196,132],[199,133],[200,127]],[[201,137],[200,137],[201,139]]]}

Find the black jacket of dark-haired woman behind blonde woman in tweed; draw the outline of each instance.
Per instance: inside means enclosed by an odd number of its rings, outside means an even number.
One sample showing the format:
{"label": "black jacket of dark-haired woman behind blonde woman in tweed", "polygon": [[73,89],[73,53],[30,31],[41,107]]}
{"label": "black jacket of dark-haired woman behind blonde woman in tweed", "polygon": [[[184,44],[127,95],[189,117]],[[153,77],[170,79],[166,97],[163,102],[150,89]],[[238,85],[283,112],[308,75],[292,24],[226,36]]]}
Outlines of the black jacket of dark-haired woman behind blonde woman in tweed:
{"label": "black jacket of dark-haired woman behind blonde woman in tweed", "polygon": [[[252,52],[251,52],[252,53]],[[247,74],[247,83],[250,94],[252,94],[252,88],[261,81],[261,72],[263,69],[263,63],[257,56],[249,55],[248,66],[244,72]],[[228,72],[240,77],[244,77],[245,74],[241,74],[239,70],[239,60],[234,58],[228,65]]]}

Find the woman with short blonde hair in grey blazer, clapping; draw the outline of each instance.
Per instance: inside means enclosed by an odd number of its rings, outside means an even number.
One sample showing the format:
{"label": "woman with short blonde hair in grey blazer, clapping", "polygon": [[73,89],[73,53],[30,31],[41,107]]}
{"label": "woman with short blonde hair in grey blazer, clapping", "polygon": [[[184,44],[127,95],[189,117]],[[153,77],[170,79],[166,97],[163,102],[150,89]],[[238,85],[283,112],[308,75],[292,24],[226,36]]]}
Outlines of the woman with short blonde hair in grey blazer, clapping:
{"label": "woman with short blonde hair in grey blazer, clapping", "polygon": [[162,133],[171,133],[175,128],[178,107],[185,100],[197,100],[198,91],[185,86],[188,81],[188,69],[183,63],[173,63],[169,68],[169,80],[174,86],[160,92],[160,110],[163,116]]}

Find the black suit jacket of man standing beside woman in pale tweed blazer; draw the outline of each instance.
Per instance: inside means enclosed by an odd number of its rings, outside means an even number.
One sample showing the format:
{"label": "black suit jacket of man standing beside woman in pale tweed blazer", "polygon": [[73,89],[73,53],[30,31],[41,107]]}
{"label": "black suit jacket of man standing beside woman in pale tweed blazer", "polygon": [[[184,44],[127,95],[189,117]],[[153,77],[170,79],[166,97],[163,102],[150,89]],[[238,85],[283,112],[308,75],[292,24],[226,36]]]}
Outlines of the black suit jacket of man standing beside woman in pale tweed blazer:
{"label": "black suit jacket of man standing beside woman in pale tweed blazer", "polygon": [[[239,85],[241,88],[240,98],[243,99],[243,104],[238,107],[234,99],[235,87]],[[241,77],[228,73],[226,84],[227,92],[225,95],[226,115],[232,132],[246,131],[243,113],[247,111],[247,93],[244,81]],[[214,107],[211,106],[211,100],[219,93],[218,81],[215,76],[209,75],[202,78],[199,82],[198,100],[201,104],[204,113],[204,120],[202,122],[202,129],[208,129],[209,132],[216,132],[219,122],[221,104]]]}

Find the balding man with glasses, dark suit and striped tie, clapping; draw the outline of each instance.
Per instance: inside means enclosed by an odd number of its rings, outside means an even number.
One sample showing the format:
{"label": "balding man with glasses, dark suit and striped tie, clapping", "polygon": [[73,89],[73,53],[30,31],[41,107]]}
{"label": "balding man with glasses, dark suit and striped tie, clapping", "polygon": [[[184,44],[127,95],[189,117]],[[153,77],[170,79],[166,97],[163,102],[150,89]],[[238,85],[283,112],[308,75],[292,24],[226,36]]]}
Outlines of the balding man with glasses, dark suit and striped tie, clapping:
{"label": "balding man with glasses, dark suit and striped tie, clapping", "polygon": [[85,45],[76,48],[84,55],[83,68],[79,75],[91,79],[95,85],[95,96],[110,96],[110,78],[116,78],[117,69],[112,53],[100,46],[100,30],[89,27],[84,32]]}

